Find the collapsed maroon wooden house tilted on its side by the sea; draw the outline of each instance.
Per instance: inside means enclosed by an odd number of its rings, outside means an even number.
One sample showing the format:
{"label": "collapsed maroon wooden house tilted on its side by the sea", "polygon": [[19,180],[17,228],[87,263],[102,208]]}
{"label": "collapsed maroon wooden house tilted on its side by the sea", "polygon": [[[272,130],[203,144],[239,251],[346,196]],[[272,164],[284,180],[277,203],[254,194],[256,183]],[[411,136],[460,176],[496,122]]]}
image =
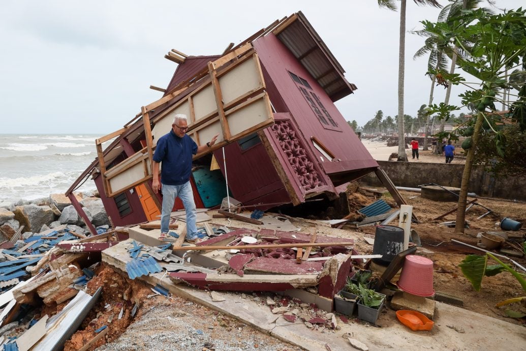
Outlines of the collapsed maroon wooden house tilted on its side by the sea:
{"label": "collapsed maroon wooden house tilted on its side by the sea", "polygon": [[[88,177],[115,226],[156,219],[161,201],[151,189],[151,158],[179,113],[188,116],[187,134],[198,145],[219,133],[210,153],[194,157],[197,207],[220,205],[225,178],[231,196],[266,209],[335,198],[338,185],[378,172],[334,104],[356,86],[301,12],[221,55],[187,56],[173,49],[165,57],[178,67],[166,89],[152,87],[164,96],[141,107],[119,131],[97,139],[98,157],[66,192],[92,233],[73,196]],[[211,171],[213,157],[219,169]]]}

